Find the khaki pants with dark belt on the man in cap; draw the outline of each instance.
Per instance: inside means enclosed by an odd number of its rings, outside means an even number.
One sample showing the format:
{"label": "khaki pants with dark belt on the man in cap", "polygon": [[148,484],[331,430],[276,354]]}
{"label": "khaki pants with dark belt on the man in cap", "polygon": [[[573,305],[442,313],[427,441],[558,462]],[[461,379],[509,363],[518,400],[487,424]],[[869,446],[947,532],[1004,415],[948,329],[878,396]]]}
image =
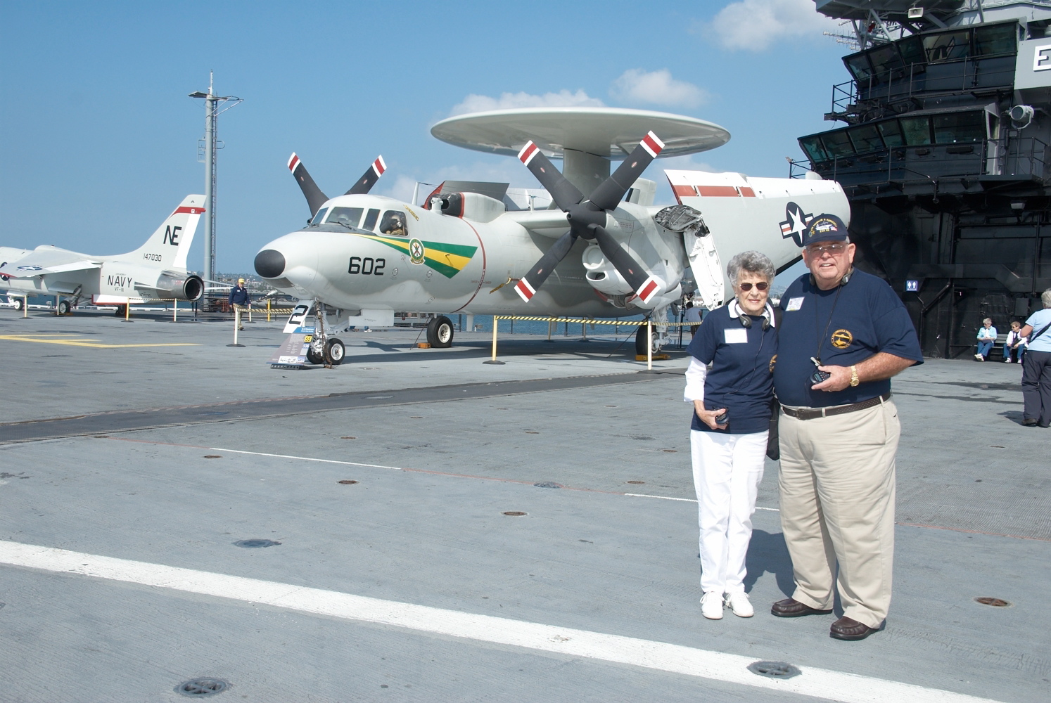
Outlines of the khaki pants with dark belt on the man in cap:
{"label": "khaki pants with dark belt on the man in cap", "polygon": [[792,598],[828,609],[837,588],[844,615],[879,627],[893,574],[898,409],[887,400],[808,420],[781,413],[778,427]]}

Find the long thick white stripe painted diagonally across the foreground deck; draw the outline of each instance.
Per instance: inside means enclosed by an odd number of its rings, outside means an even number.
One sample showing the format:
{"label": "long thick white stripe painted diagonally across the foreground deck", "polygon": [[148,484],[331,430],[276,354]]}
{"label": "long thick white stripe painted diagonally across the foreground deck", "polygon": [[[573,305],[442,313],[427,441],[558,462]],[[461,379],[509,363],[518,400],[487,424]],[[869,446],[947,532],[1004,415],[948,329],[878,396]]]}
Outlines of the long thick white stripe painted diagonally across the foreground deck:
{"label": "long thick white stripe painted diagonally across the foreground deck", "polygon": [[[748,664],[756,661],[751,657],[5,540],[0,540],[0,563],[262,603],[849,703],[996,703],[937,688],[808,666],[800,667],[802,674],[792,679],[767,679],[747,670]],[[770,653],[767,657],[779,659],[780,655]]]}

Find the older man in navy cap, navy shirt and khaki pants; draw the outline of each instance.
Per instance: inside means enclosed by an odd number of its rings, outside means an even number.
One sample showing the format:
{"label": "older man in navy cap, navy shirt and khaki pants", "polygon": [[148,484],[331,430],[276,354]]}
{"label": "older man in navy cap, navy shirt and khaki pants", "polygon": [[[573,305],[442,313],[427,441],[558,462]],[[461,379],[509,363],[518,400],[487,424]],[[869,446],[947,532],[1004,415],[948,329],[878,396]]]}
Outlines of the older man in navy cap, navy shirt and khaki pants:
{"label": "older man in navy cap, navy shirt and khaki pants", "polygon": [[894,454],[901,426],[890,377],[922,364],[920,343],[885,282],[853,269],[854,245],[832,214],[803,236],[809,274],[781,297],[774,388],[781,401],[781,524],[796,591],[782,618],[844,615],[829,635],[882,628],[894,551]]}

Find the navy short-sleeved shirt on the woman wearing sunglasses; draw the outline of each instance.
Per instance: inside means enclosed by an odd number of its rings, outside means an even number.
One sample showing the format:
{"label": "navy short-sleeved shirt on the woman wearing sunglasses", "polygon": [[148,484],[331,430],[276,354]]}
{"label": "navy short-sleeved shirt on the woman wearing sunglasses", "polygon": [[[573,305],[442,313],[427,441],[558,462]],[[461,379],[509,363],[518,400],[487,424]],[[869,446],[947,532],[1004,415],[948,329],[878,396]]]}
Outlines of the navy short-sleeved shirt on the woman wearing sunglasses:
{"label": "navy short-sleeved shirt on the woman wearing sunglasses", "polygon": [[[748,315],[751,327],[729,316],[728,306],[713,310],[686,347],[701,364],[712,364],[704,377],[704,408],[725,408],[725,430],[713,430],[694,412],[691,428],[701,432],[751,434],[770,429],[774,381],[770,359],[778,352],[777,330],[763,331],[763,317]],[[714,364],[713,364],[714,361]]]}

